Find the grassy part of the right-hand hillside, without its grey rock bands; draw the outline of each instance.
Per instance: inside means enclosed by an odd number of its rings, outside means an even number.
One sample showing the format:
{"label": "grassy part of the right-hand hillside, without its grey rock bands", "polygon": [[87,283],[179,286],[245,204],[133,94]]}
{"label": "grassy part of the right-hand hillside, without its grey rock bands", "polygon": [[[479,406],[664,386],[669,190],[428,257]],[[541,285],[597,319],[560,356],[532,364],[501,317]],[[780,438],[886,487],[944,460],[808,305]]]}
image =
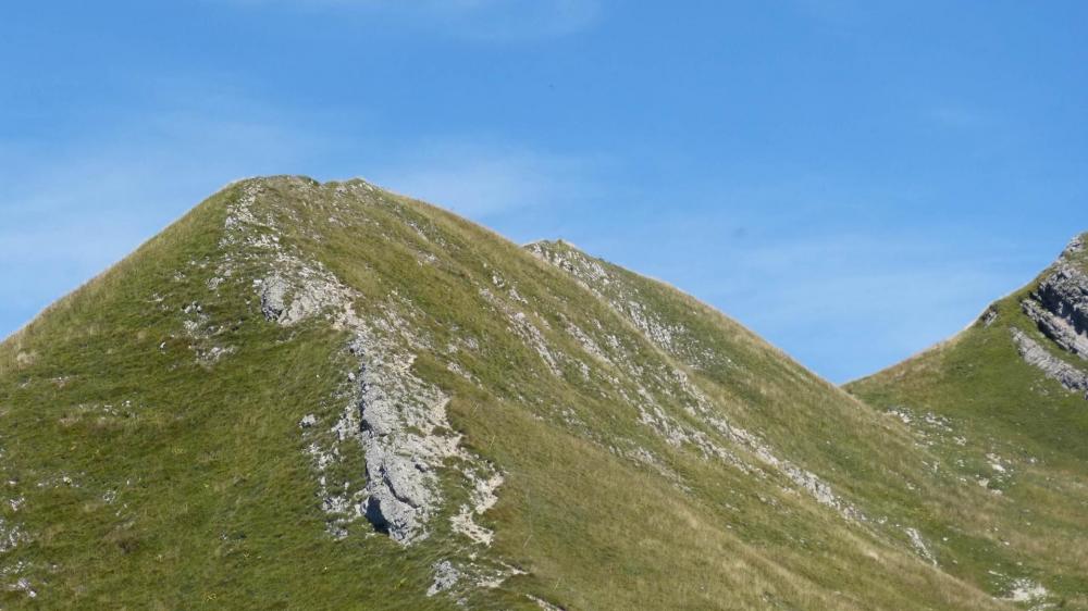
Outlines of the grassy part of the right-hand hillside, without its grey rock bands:
{"label": "grassy part of the right-hand hillside, without its grey rock bands", "polygon": [[[1016,327],[1050,344],[1019,308],[1041,278],[994,303],[998,317],[989,326],[980,320],[848,388],[879,409],[912,412],[917,433],[929,429],[931,451],[964,486],[991,490],[993,502],[964,515],[975,527],[962,527],[953,540],[976,579],[1002,582],[1011,573],[1027,573],[1060,606],[1083,609],[1088,608],[1088,401],[1025,363],[1010,334]],[[926,413],[947,419],[950,431],[935,433],[917,417]],[[1009,473],[993,469],[993,457]]]}

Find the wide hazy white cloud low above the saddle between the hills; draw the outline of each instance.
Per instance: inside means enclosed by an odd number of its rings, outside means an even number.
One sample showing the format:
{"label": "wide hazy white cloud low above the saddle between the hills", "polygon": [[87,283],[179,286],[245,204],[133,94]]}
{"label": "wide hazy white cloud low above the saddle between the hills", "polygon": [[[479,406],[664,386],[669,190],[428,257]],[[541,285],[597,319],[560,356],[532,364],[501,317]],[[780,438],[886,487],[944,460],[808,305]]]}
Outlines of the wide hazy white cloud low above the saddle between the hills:
{"label": "wide hazy white cloud low above the saddle between the hills", "polygon": [[688,202],[676,209],[669,192],[645,192],[662,204],[569,237],[706,300],[837,382],[954,334],[1051,255],[961,220],[922,220],[929,195],[910,185],[782,172],[741,188],[693,185],[671,194]]}

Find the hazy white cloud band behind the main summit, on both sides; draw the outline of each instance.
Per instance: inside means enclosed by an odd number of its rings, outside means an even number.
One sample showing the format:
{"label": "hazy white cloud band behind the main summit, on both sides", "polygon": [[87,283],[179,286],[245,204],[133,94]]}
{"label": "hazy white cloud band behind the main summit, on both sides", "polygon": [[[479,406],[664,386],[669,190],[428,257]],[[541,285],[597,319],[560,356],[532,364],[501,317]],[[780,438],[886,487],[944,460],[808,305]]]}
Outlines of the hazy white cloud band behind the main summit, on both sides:
{"label": "hazy white cloud band behind the main summit, on both sides", "polygon": [[156,100],[153,112],[102,121],[55,148],[0,139],[0,336],[246,176],[361,174],[486,222],[598,190],[601,160],[471,137],[366,139],[336,113],[304,115],[213,85],[160,84],[177,101]]}

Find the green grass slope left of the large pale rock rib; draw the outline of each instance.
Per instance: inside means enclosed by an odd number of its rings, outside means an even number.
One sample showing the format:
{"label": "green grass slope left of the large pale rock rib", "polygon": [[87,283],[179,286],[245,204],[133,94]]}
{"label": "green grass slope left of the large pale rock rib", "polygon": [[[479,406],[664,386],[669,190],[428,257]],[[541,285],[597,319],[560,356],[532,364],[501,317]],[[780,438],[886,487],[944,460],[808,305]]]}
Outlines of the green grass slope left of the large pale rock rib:
{"label": "green grass slope left of the large pale rock rib", "polygon": [[[309,469],[295,423],[301,406],[331,392],[332,381],[319,377],[331,357],[327,332],[284,342],[244,296],[227,294],[210,310],[237,319],[240,350],[210,372],[178,338],[175,308],[154,302],[208,302],[205,274],[190,261],[215,249],[224,197],[3,345],[4,495],[26,499],[4,513],[33,534],[4,565],[24,562],[46,607],[297,608],[310,599],[334,608],[367,599],[381,608],[386,593],[430,582],[426,558],[320,536],[312,487],[300,485]],[[175,279],[180,270],[184,279]],[[374,571],[375,562],[385,569]]]}

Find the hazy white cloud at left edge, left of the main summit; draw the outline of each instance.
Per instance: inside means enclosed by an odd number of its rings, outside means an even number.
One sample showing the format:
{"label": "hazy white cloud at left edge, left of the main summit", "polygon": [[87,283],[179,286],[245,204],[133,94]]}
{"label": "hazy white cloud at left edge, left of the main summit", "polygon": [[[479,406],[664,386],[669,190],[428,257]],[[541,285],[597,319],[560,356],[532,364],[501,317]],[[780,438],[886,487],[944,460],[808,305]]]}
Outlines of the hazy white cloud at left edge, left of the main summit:
{"label": "hazy white cloud at left edge, left of the main summit", "polygon": [[260,114],[180,108],[49,150],[0,141],[0,337],[214,189],[298,166],[313,140]]}

